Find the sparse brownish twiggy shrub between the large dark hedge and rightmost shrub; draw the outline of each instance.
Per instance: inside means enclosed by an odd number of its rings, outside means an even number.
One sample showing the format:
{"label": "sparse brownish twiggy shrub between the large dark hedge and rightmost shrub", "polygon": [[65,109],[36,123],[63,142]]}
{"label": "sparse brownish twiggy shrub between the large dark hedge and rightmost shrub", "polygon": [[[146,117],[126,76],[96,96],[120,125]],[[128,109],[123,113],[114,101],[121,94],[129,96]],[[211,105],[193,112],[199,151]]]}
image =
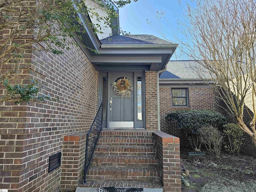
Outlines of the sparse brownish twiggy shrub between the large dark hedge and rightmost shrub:
{"label": "sparse brownish twiggy shrub between the large dark hedge and rightmost shrub", "polygon": [[200,140],[205,144],[207,151],[218,158],[223,140],[223,136],[220,131],[213,126],[208,126],[200,128],[199,134]]}

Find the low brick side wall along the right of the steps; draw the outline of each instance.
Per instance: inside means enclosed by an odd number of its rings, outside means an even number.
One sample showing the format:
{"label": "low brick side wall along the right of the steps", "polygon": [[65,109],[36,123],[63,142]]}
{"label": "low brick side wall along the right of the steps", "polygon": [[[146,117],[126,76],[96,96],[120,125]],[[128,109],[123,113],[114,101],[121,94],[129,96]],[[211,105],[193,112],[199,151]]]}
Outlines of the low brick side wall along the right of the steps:
{"label": "low brick side wall along the right of the steps", "polygon": [[161,131],[152,133],[164,192],[180,192],[180,139]]}

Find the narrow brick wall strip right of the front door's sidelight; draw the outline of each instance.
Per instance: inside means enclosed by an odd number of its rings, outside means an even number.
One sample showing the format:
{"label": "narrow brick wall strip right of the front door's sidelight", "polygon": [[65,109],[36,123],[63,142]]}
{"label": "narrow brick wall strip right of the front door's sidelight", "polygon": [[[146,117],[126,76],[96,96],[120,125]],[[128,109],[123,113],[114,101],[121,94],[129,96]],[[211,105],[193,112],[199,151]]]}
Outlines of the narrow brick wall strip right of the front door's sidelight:
{"label": "narrow brick wall strip right of the front door's sidelight", "polygon": [[146,129],[158,130],[157,120],[157,80],[156,72],[145,72],[146,82]]}

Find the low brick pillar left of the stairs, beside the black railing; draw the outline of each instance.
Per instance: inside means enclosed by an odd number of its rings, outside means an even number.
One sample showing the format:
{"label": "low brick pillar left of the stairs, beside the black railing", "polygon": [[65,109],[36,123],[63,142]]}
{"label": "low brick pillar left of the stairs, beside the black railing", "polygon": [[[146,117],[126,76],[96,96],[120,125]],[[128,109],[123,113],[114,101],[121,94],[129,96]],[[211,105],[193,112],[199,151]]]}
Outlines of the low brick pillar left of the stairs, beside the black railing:
{"label": "low brick pillar left of the stairs, beside the black railing", "polygon": [[86,133],[64,136],[61,165],[60,189],[74,192],[82,182],[84,172],[84,157]]}

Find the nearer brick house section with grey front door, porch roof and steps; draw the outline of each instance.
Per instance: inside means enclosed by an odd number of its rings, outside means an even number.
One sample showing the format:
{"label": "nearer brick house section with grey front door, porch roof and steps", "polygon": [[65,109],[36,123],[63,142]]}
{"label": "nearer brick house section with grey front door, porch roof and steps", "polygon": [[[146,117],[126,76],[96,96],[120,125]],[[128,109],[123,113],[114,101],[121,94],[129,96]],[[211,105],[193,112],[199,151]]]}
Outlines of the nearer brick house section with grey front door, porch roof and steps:
{"label": "nearer brick house section with grey front door, porch roof and steps", "polygon": [[[66,39],[81,46],[62,55],[26,53],[23,73],[38,79],[43,94],[59,100],[0,102],[0,189],[64,192],[122,183],[180,191],[179,138],[159,131],[157,111],[158,74],[178,45],[152,35],[121,36],[114,29],[108,29],[112,36],[99,38],[85,29],[82,40]],[[0,43],[8,33],[1,31]],[[112,88],[124,77],[133,88],[127,98]],[[101,101],[104,131],[83,184],[86,134]]]}

